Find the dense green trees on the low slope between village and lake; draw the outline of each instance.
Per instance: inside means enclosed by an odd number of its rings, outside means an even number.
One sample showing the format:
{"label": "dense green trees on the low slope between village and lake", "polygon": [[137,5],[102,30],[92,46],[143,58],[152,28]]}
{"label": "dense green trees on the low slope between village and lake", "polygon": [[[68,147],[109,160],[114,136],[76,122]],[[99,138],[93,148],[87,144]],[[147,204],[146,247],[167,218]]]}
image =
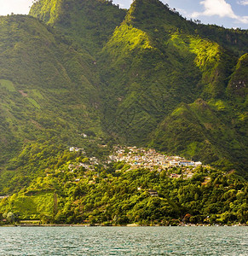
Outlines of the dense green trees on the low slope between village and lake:
{"label": "dense green trees on the low slope between village and lake", "polygon": [[12,212],[43,224],[247,222],[247,183],[234,172],[199,166],[191,178],[172,178],[182,168],[126,171],[123,162],[80,166],[88,161],[84,154],[61,152],[45,176],[1,201],[3,218]]}

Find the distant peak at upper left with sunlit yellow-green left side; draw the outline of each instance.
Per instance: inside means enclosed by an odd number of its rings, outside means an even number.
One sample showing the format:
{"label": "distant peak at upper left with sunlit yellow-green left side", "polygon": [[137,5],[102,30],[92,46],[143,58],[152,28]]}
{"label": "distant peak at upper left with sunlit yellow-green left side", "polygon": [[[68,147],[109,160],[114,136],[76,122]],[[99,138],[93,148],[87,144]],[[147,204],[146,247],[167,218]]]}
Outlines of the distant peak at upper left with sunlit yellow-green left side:
{"label": "distant peak at upper left with sunlit yellow-green left side", "polygon": [[40,0],[30,10],[30,15],[60,29],[93,55],[125,14],[124,9],[104,0]]}

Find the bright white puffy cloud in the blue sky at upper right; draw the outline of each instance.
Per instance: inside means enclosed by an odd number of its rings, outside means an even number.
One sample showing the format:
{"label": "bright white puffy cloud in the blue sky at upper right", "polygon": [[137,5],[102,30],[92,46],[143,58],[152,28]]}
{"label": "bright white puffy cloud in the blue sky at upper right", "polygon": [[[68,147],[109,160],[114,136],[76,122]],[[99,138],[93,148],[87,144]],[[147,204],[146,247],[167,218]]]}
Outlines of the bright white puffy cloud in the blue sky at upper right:
{"label": "bright white puffy cloud in the blue sky at upper right", "polygon": [[[242,2],[248,2],[247,0]],[[203,12],[193,12],[192,18],[197,18],[199,16],[214,16],[217,15],[221,18],[228,17],[235,20],[235,22],[241,22],[248,24],[248,16],[235,15],[231,4],[227,3],[225,0],[204,0],[200,4],[204,5],[205,10]]]}

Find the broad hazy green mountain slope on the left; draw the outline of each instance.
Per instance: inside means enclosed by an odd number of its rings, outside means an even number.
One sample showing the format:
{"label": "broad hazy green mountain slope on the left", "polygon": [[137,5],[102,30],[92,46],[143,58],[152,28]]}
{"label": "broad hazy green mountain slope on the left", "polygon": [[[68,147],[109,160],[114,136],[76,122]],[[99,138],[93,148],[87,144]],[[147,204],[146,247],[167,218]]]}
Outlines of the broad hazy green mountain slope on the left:
{"label": "broad hazy green mountain slope on the left", "polygon": [[[68,147],[86,131],[101,134],[89,55],[32,17],[1,17],[0,24],[1,168],[26,145],[49,140]],[[18,169],[8,168],[11,175]]]}

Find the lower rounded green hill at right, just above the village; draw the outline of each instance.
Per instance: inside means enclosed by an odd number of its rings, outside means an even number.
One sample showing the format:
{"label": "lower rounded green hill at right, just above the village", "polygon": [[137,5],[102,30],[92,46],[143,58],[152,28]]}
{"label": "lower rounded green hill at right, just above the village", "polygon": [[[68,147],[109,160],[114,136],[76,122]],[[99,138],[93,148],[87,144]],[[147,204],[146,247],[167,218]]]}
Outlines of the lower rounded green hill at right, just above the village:
{"label": "lower rounded green hill at right, just above the village", "polygon": [[[221,100],[182,104],[170,113],[153,132],[153,147],[174,154],[201,159],[228,168],[245,169],[247,140],[237,129],[244,119]],[[230,124],[232,120],[232,124]]]}

